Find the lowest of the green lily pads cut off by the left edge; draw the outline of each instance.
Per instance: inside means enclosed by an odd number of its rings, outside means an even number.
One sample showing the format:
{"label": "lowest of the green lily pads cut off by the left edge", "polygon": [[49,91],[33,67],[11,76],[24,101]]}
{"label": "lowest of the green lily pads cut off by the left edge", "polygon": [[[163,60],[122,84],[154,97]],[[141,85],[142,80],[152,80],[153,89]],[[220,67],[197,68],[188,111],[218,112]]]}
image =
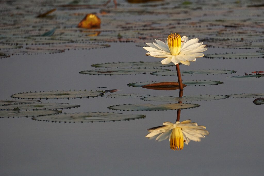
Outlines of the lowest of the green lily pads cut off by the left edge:
{"label": "lowest of the green lily pads cut off by the left edge", "polygon": [[51,114],[58,114],[61,111],[58,110],[31,110],[31,111],[19,111],[19,110],[1,110],[0,118],[2,117],[37,117]]}

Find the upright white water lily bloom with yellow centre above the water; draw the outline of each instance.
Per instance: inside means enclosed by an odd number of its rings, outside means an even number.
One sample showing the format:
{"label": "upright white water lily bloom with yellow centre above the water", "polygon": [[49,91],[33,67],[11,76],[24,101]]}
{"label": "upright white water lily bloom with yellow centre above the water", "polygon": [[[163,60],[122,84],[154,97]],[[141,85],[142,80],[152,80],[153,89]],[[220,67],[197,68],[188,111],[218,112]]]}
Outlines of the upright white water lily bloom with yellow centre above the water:
{"label": "upright white water lily bloom with yellow centre above the water", "polygon": [[153,56],[156,58],[165,58],[161,61],[162,64],[169,64],[173,62],[175,65],[182,63],[184,65],[190,65],[190,61],[194,62],[196,58],[203,57],[201,53],[207,48],[203,43],[198,43],[199,39],[191,39],[188,37],[181,36],[179,34],[171,34],[168,39],[163,42],[156,40],[157,43],[147,43],[148,46],[143,47],[149,51],[146,53],[147,56]]}

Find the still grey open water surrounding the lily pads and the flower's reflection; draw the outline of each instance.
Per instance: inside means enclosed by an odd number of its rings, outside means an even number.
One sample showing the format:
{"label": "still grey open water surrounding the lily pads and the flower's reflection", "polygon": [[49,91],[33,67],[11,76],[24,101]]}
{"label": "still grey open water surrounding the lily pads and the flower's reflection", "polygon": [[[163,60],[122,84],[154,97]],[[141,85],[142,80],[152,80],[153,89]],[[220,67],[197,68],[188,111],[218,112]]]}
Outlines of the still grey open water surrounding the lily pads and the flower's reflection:
{"label": "still grey open water surrounding the lily pads and the flower's reflection", "polygon": [[[263,14],[260,14],[263,16]],[[187,33],[187,32],[186,32]],[[263,36],[262,36],[263,37]],[[192,38],[192,37],[190,37]],[[162,38],[165,40],[165,38]],[[209,44],[210,42],[205,44]],[[14,55],[0,60],[0,99],[20,92],[51,90],[106,90],[152,96],[178,96],[179,90],[158,91],[128,87],[128,83],[177,81],[176,76],[83,75],[91,64],[106,62],[160,61],[145,56],[134,43],[111,43],[93,50],[69,50],[59,54]],[[255,50],[209,47],[214,53]],[[215,80],[223,84],[187,86],[183,95],[229,95],[264,93],[261,78],[227,78],[263,70],[263,58],[197,58],[181,70],[226,69],[233,74],[182,76],[185,80]],[[175,67],[168,67],[175,70]],[[102,88],[103,87],[103,88]],[[210,132],[201,142],[191,141],[183,150],[173,151],[169,141],[148,140],[147,129],[176,121],[173,111],[113,111],[117,104],[152,103],[140,98],[42,99],[42,102],[78,104],[63,109],[72,112],[122,112],[146,115],[144,119],[96,123],[52,123],[31,117],[0,118],[0,175],[262,175],[264,172],[263,105],[255,98],[226,98],[192,101],[200,107],[181,110],[181,120],[191,119]],[[171,102],[165,102],[171,103]],[[185,103],[185,102],[183,102]]]}

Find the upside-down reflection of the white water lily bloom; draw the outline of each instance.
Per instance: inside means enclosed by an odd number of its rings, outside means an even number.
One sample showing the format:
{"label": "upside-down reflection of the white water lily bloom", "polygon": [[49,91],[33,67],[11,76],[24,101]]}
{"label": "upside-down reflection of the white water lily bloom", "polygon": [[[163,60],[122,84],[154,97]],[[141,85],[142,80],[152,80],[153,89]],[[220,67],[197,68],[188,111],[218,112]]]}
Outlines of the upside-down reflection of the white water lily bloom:
{"label": "upside-down reflection of the white water lily bloom", "polygon": [[172,150],[182,150],[183,143],[188,144],[191,140],[199,142],[201,138],[205,137],[204,135],[208,135],[209,132],[205,129],[205,126],[191,123],[191,120],[177,121],[176,123],[164,122],[163,126],[148,129],[150,133],[146,137],[149,139],[156,138],[156,141],[169,138]]}

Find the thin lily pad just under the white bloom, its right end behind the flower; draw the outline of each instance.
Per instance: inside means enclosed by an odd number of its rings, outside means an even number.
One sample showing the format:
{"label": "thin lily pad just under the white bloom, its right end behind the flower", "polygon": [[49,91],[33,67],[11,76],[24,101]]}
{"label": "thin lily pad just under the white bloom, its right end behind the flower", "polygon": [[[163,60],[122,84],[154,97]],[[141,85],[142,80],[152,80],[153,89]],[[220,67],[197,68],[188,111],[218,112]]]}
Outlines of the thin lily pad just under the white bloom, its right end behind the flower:
{"label": "thin lily pad just under the white bloom, its right end behind the flower", "polygon": [[118,62],[118,63],[104,63],[104,64],[93,64],[91,66],[94,67],[111,67],[111,68],[124,68],[124,67],[134,67],[134,68],[139,68],[139,67],[164,67],[164,66],[173,66],[173,63],[170,64],[162,64],[161,61],[157,61],[157,62],[143,62],[143,61],[139,61],[139,62]]}

